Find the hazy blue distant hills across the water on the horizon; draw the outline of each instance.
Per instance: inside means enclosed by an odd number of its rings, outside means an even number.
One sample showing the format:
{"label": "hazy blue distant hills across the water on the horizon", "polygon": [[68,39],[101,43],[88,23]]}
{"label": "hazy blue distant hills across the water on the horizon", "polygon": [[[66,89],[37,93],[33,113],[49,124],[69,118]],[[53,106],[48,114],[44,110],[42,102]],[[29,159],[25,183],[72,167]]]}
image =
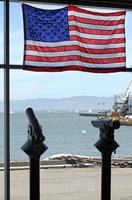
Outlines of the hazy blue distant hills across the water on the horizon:
{"label": "hazy blue distant hills across the water on the horizon", "polygon": [[[89,109],[111,109],[113,97],[74,96],[70,98],[43,98],[11,101],[11,111],[25,111],[32,107],[38,111],[84,111]],[[0,112],[3,112],[3,102],[0,101]]]}

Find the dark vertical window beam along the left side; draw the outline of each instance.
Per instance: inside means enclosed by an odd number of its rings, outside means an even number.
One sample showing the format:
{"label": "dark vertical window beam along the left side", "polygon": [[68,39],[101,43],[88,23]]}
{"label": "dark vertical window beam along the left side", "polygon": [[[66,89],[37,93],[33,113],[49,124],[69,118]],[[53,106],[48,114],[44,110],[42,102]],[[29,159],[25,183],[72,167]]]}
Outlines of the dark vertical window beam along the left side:
{"label": "dark vertical window beam along the left side", "polygon": [[4,200],[10,200],[9,0],[4,0]]}

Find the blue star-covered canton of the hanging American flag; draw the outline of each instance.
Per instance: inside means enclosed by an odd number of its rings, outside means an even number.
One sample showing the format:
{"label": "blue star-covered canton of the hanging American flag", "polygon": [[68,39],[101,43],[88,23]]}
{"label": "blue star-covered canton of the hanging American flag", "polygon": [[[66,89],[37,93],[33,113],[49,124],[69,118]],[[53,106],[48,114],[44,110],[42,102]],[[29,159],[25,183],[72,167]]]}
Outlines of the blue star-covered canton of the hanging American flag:
{"label": "blue star-covered canton of the hanging American flag", "polygon": [[24,5],[26,40],[59,42],[69,40],[67,7],[43,10]]}

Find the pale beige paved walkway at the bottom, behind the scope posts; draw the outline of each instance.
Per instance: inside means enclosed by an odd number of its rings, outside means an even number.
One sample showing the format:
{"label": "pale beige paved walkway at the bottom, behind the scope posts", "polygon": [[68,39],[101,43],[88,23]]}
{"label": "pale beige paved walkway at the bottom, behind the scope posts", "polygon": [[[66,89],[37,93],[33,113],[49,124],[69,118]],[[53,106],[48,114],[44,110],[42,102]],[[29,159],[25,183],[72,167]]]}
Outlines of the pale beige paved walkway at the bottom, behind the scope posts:
{"label": "pale beige paved walkway at the bottom, behind the scope posts", "polygon": [[[11,200],[29,200],[29,171],[11,171]],[[3,200],[0,171],[0,200]],[[100,200],[100,168],[41,170],[41,200]],[[112,200],[132,200],[132,169],[112,169]]]}

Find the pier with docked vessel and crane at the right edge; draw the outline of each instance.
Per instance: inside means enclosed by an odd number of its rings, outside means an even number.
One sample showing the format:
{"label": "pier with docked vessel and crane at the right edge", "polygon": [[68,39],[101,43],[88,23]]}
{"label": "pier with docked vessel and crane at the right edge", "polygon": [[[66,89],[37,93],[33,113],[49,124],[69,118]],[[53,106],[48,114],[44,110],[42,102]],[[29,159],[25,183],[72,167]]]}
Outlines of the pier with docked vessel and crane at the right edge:
{"label": "pier with docked vessel and crane at the right edge", "polygon": [[119,120],[121,125],[132,126],[132,93],[130,81],[124,94],[114,96],[114,105],[111,110],[102,110],[100,112],[79,113],[80,116],[93,116],[98,120]]}

